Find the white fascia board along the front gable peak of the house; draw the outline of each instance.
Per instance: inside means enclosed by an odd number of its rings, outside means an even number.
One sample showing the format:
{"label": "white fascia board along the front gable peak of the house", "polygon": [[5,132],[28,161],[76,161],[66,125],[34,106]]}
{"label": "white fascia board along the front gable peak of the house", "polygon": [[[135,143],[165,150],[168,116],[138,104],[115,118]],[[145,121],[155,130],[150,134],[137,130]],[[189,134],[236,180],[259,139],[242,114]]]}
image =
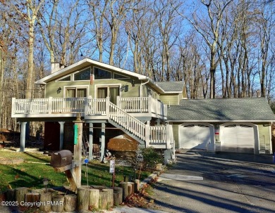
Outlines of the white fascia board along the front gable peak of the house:
{"label": "white fascia board along the front gable peak of the house", "polygon": [[[130,75],[132,77],[137,77],[138,79],[140,80],[143,80],[143,79],[149,79],[149,77],[145,76],[145,75],[140,75],[138,73],[135,73],[135,72],[131,72],[131,71],[128,71],[128,70],[123,70],[121,68],[118,68],[118,67],[114,67],[112,65],[107,65],[105,63],[102,63],[102,62],[99,62],[97,60],[92,60],[92,59],[89,59],[89,58],[85,58],[83,60],[80,60],[78,61],[77,63],[74,63],[73,65],[69,65],[68,67],[65,67],[59,71],[56,71],[54,73],[52,73],[51,75],[48,75],[47,77],[44,77],[42,79],[39,79],[35,82],[35,84],[47,84],[47,82],[49,82],[51,79],[55,79],[59,76],[63,76],[63,75],[67,75],[71,72],[74,72],[74,68],[75,67],[78,67],[82,64],[85,64],[87,63],[87,65],[98,65],[98,66],[101,66],[101,67],[105,67],[106,69],[109,69],[109,70],[114,70],[116,72],[121,72],[122,74],[126,74],[126,75]],[[73,71],[71,71],[73,70]]]}

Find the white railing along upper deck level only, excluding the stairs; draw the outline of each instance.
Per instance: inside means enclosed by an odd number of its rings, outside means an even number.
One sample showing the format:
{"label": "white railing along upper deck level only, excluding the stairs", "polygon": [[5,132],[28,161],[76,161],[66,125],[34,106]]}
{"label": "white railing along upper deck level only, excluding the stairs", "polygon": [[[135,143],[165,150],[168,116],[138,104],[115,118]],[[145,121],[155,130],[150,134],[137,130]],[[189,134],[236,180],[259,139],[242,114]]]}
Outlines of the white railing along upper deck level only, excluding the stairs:
{"label": "white railing along upper deck level only, excluding the stairs", "polygon": [[[167,107],[151,96],[141,98],[117,97],[117,106],[130,113],[151,113],[158,117],[167,116]],[[13,98],[12,115],[84,113],[106,115],[106,98]],[[14,116],[16,117],[16,116]]]}

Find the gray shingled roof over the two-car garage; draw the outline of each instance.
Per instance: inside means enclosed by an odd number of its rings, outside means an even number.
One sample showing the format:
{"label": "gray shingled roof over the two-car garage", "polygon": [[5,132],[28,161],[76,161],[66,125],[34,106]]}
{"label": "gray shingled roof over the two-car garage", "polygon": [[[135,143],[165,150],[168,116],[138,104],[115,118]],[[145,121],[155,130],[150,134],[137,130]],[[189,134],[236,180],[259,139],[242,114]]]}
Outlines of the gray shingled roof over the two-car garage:
{"label": "gray shingled roof over the two-car garage", "polygon": [[270,122],[275,115],[265,98],[188,99],[170,106],[168,120]]}

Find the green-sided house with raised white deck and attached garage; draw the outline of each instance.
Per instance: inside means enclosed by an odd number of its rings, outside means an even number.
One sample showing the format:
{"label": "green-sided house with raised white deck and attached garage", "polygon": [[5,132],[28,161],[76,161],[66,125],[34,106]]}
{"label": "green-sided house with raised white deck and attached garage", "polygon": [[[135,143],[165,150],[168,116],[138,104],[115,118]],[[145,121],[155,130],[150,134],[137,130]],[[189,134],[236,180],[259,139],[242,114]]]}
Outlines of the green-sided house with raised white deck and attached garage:
{"label": "green-sided house with raised white deck and attached garage", "polygon": [[101,156],[109,139],[120,134],[167,150],[172,158],[177,148],[272,153],[275,116],[265,98],[190,100],[183,82],[154,82],[88,58],[68,67],[53,63],[51,74],[35,83],[45,86],[44,98],[13,98],[21,150],[31,121],[45,122],[45,148],[71,149],[73,121],[80,115],[90,147],[99,144]]}

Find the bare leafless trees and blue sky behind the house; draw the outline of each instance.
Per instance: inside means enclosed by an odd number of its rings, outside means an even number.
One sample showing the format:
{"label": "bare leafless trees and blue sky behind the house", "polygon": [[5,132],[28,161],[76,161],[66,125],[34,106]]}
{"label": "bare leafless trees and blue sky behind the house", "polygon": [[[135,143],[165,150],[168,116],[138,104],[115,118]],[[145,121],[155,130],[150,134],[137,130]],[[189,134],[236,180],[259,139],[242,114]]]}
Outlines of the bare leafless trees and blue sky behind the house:
{"label": "bare leafless trees and blue sky behind the house", "polygon": [[44,98],[51,63],[83,58],[275,111],[275,1],[1,0],[0,129],[19,130],[11,98]]}

